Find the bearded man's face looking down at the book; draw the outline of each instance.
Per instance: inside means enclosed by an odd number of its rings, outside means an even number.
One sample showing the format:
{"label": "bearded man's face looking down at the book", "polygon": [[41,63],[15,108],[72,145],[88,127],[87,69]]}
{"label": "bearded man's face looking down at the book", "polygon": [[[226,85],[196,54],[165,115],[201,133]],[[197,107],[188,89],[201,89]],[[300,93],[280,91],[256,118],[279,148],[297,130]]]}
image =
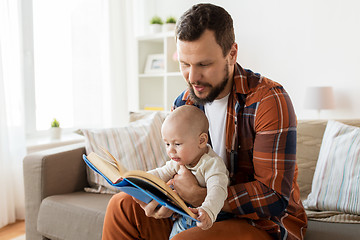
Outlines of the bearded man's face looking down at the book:
{"label": "bearded man's face looking down at the book", "polygon": [[177,42],[181,72],[198,104],[225,97],[231,90],[237,47],[224,57],[214,33],[206,30],[196,41]]}

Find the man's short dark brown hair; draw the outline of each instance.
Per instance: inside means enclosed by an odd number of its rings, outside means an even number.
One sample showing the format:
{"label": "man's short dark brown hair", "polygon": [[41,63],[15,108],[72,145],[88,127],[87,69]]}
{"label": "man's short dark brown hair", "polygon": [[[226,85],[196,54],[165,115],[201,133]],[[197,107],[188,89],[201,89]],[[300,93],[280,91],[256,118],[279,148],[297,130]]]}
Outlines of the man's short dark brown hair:
{"label": "man's short dark brown hair", "polygon": [[206,29],[214,31],[216,42],[226,56],[235,42],[235,34],[233,20],[222,7],[209,3],[192,6],[176,25],[176,39],[195,41]]}

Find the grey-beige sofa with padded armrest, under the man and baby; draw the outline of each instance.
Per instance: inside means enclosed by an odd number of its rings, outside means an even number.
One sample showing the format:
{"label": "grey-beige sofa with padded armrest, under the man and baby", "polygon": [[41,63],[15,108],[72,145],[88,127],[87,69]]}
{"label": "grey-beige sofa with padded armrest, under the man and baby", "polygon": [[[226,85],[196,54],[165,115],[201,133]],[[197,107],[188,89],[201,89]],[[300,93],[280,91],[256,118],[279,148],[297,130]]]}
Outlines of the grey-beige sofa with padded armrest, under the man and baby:
{"label": "grey-beige sofa with padded armrest, under the man and baby", "polygon": [[[359,120],[345,123],[360,126]],[[299,121],[297,161],[302,199],[311,189],[326,121]],[[84,192],[88,186],[82,144],[24,158],[26,239],[101,239],[108,194]],[[360,224],[309,221],[306,240],[359,239]]]}

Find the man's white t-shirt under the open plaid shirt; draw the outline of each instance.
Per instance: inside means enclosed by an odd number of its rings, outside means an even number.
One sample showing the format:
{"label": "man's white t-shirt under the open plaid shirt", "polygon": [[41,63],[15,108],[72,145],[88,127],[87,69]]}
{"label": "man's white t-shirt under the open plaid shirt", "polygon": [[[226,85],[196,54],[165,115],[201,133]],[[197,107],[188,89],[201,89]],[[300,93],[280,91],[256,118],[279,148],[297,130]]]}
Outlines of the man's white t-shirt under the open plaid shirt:
{"label": "man's white t-shirt under the open plaid shirt", "polygon": [[205,104],[205,114],[209,120],[209,133],[214,151],[226,164],[226,112],[229,95]]}

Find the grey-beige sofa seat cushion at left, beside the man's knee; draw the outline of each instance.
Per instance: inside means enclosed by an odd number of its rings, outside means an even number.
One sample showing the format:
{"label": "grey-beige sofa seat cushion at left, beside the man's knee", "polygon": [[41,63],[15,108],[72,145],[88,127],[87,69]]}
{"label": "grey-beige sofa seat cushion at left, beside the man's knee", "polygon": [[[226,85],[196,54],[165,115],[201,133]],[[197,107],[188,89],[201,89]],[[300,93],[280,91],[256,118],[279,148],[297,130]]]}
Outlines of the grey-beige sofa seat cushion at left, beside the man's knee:
{"label": "grey-beige sofa seat cushion at left, beside the man's knee", "polygon": [[40,205],[37,230],[49,239],[101,239],[111,196],[75,192],[47,197]]}

